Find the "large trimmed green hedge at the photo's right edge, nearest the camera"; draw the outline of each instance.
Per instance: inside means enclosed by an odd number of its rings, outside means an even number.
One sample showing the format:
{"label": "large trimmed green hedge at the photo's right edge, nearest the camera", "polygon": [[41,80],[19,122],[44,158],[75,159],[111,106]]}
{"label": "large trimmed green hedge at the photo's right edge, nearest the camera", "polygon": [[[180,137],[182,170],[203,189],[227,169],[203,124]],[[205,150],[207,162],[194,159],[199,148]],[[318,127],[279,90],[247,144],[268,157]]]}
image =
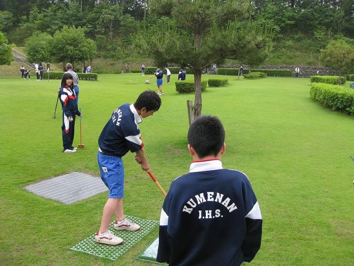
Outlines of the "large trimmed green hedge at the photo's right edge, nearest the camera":
{"label": "large trimmed green hedge at the photo's right edge, nearest the camera", "polygon": [[354,116],[354,91],[339,85],[311,83],[310,97],[325,107]]}

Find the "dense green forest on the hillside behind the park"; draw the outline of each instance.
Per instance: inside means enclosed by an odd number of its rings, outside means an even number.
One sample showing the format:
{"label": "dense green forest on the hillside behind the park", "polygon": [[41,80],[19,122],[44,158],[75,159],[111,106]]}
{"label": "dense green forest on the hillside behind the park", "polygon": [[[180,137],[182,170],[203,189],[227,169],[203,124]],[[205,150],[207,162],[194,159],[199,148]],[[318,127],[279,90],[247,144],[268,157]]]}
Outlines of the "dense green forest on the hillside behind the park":
{"label": "dense green forest on the hillside behind the park", "polygon": [[[267,23],[275,31],[274,48],[264,64],[318,66],[320,49],[331,40],[342,39],[354,46],[353,0],[257,0],[250,4],[250,19]],[[53,35],[64,25],[80,27],[96,43],[99,72],[111,72],[111,67],[125,63],[134,68],[142,60],[152,64],[139,55],[133,34],[142,21],[155,26],[158,19],[150,14],[148,0],[0,0],[0,31],[10,44],[23,46],[30,36]]]}

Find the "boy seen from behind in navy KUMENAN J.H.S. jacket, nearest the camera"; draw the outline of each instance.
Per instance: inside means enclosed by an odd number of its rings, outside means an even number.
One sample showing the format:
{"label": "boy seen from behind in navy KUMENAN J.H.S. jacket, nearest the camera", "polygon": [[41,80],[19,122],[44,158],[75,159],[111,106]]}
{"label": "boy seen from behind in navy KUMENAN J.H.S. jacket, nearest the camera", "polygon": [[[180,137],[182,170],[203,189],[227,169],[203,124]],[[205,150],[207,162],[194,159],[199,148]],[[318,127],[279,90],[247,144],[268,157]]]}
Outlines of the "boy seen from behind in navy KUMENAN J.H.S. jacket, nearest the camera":
{"label": "boy seen from behind in navy KUMENAN J.H.S. jacket, nearest the camera", "polygon": [[198,117],[188,130],[189,173],[172,181],[160,215],[158,262],[240,265],[261,246],[262,216],[246,174],[224,169],[219,119]]}

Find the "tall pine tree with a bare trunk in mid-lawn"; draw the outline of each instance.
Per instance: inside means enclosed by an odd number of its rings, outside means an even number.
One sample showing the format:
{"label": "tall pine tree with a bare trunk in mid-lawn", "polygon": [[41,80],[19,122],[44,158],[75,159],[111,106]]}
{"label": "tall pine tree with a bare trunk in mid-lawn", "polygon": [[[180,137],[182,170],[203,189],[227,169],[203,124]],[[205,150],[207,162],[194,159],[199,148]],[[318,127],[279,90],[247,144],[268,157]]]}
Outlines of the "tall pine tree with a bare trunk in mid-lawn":
{"label": "tall pine tree with a bare trunk in mid-lawn", "polygon": [[248,20],[246,0],[150,0],[149,5],[153,14],[168,17],[145,26],[137,44],[159,67],[176,63],[192,69],[195,117],[202,111],[202,71],[226,58],[241,57],[251,44],[262,49],[270,36],[268,29]]}

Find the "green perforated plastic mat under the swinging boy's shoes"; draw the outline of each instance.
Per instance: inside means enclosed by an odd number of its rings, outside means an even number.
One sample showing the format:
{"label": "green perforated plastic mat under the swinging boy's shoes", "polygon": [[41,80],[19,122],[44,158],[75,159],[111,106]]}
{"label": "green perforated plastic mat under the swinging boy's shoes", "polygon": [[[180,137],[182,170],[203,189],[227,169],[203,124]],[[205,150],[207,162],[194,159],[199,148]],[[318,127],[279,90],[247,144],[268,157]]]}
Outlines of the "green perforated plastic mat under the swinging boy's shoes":
{"label": "green perforated plastic mat under the swinging boy's shoes", "polygon": [[89,253],[102,258],[108,258],[116,260],[119,256],[128,251],[133,245],[138,243],[145,235],[147,235],[156,225],[158,221],[144,220],[137,217],[126,216],[130,221],[137,223],[141,226],[139,231],[117,231],[114,229],[112,222],[110,224],[110,230],[121,238],[123,238],[123,245],[109,246],[102,245],[95,241],[95,234],[89,236],[85,240],[81,241],[77,245],[70,248],[71,250]]}

